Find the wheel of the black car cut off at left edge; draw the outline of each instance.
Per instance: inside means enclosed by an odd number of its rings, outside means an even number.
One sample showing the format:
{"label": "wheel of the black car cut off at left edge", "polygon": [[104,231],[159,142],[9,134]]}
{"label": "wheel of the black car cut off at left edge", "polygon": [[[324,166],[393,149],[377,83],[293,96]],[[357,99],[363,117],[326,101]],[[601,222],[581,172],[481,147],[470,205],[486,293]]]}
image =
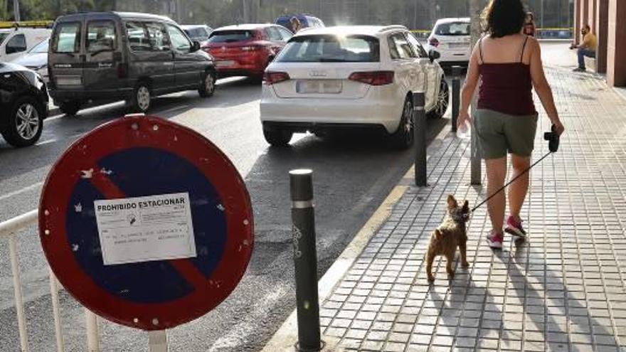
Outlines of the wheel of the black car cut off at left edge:
{"label": "wheel of the black car cut off at left edge", "polygon": [[39,140],[42,129],[43,107],[33,97],[22,97],[15,102],[2,137],[12,146],[30,146]]}

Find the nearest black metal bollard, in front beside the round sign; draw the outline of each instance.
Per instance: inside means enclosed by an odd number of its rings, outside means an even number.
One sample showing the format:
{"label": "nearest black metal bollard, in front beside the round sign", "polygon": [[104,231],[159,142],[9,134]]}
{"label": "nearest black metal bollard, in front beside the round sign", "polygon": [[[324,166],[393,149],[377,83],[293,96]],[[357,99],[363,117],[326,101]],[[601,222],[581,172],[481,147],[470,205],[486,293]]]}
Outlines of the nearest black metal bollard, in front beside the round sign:
{"label": "nearest black metal bollard, in front beside the round sign", "polygon": [[292,170],[289,176],[298,318],[296,348],[298,351],[319,351],[322,349],[322,341],[317,292],[313,171]]}

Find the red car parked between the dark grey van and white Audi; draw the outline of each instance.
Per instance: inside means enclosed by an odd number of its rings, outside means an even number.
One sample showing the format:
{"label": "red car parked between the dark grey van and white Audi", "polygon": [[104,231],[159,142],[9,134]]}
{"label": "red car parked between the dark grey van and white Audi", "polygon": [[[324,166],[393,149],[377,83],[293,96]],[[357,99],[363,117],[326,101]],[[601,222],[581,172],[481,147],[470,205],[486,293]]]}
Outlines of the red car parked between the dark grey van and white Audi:
{"label": "red car parked between the dark grey van and white Audi", "polygon": [[275,24],[217,28],[203,47],[216,60],[218,75],[261,78],[263,71],[293,36]]}

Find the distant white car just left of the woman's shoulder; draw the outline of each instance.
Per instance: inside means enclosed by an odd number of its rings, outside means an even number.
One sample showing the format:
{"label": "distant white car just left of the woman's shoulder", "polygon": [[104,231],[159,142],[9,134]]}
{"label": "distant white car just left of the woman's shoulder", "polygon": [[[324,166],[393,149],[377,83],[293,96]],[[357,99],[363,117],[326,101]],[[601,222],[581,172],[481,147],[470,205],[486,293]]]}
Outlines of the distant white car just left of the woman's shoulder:
{"label": "distant white car just left of the woman's shoulder", "polygon": [[470,18],[441,18],[428,37],[426,50],[437,50],[440,65],[466,66],[470,62]]}

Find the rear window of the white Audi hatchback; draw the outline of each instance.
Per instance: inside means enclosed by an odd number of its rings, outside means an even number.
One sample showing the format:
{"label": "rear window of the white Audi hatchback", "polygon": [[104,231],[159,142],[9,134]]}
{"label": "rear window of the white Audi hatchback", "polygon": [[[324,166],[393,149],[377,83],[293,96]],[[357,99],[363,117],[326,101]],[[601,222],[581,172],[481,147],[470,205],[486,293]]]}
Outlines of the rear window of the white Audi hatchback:
{"label": "rear window of the white Audi hatchback", "polygon": [[369,36],[297,36],[276,60],[282,63],[376,63],[378,39]]}

